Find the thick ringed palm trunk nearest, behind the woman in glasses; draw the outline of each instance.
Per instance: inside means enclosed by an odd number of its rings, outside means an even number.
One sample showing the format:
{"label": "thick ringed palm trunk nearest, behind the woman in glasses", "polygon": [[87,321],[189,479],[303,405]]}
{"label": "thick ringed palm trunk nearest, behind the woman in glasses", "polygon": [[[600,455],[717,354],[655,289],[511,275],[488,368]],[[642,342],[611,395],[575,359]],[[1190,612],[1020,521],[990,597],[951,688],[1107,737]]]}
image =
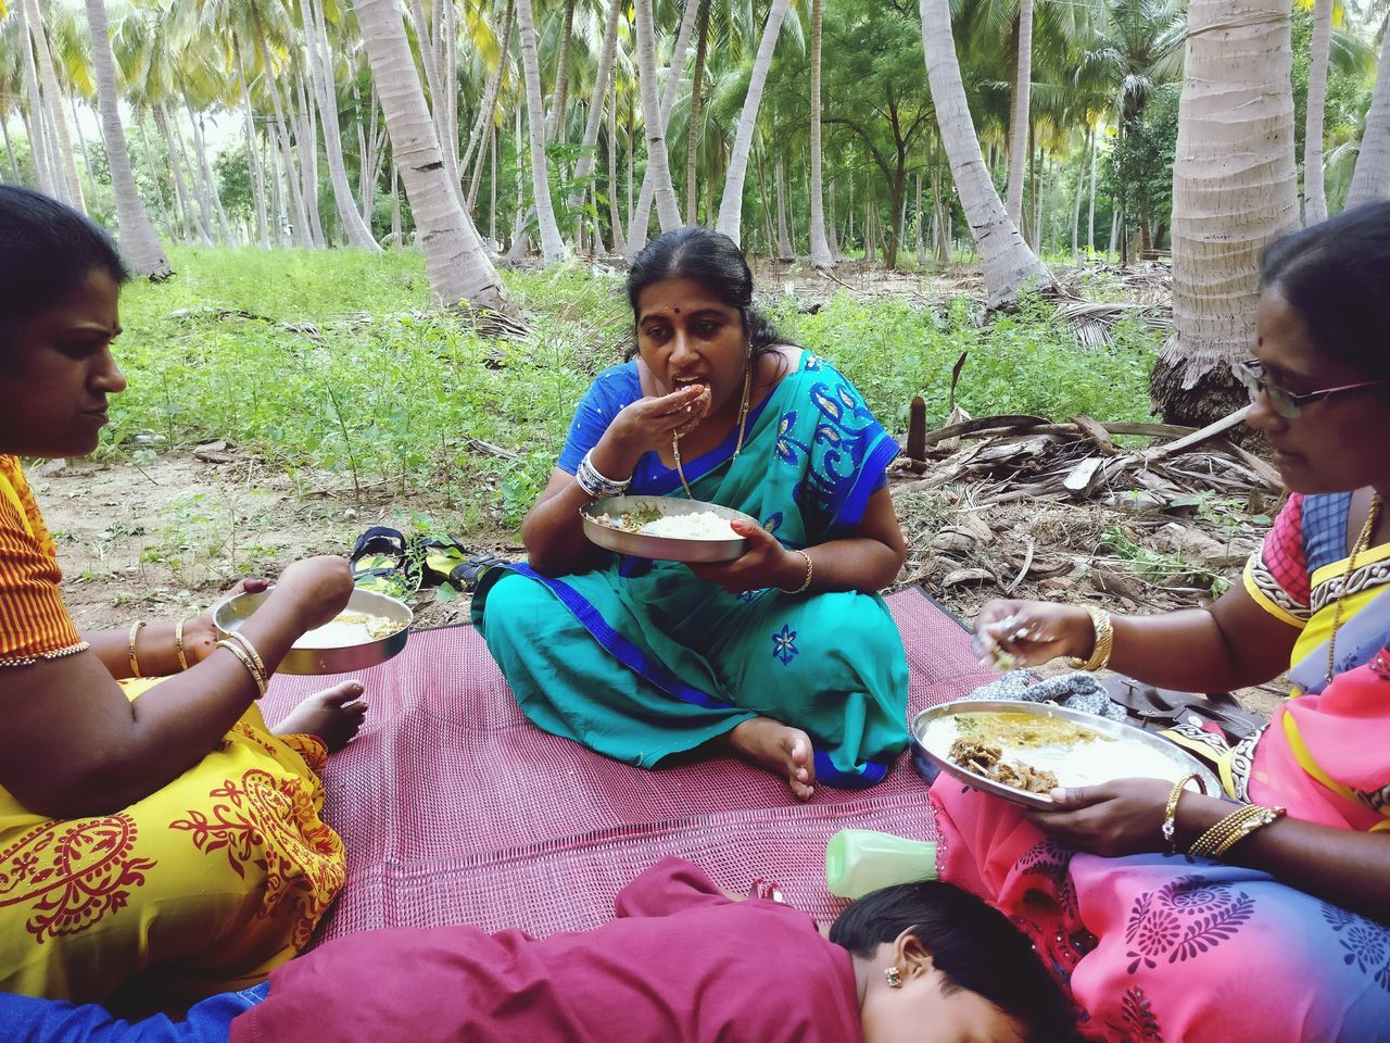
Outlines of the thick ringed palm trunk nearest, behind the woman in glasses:
{"label": "thick ringed palm trunk nearest, behind the woman in glasses", "polygon": [[1175,423],[1201,426],[1244,403],[1230,367],[1254,341],[1259,254],[1298,224],[1289,26],[1282,0],[1188,4],[1173,161],[1173,337],[1151,384]]}

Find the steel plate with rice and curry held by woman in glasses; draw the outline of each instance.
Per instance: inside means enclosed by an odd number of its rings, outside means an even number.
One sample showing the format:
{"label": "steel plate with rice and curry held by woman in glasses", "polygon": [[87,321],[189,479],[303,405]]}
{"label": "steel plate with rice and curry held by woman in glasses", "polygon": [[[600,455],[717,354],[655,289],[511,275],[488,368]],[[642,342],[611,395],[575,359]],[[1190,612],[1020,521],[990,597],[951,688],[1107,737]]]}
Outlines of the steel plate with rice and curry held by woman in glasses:
{"label": "steel plate with rice and curry held by woman in glasses", "polygon": [[912,720],[912,759],[927,782],[945,772],[1026,808],[1052,807],[1054,786],[1175,783],[1193,772],[1220,793],[1216,776],[1166,738],[1049,702],[956,700],[924,709]]}

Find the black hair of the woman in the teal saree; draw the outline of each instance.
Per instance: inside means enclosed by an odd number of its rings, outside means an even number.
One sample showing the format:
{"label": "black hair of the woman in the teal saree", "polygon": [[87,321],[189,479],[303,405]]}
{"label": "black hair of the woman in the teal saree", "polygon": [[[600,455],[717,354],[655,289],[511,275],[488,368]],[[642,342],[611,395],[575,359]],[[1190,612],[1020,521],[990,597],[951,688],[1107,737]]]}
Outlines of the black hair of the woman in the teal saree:
{"label": "black hair of the woman in the teal saree", "polygon": [[753,306],[753,273],[738,243],[723,232],[688,225],[652,239],[627,273],[627,299],[637,320],[642,291],[667,280],[694,280],[738,309],[753,355],[787,343]]}

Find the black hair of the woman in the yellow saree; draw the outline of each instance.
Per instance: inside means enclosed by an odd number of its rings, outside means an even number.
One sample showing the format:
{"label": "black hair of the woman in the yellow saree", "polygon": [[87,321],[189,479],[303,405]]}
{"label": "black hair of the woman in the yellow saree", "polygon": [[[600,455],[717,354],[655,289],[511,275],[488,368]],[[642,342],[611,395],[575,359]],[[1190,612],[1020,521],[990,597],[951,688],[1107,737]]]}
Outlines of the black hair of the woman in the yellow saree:
{"label": "black hair of the woman in the yellow saree", "polygon": [[111,236],[42,192],[0,185],[0,348],[17,323],[40,314],[101,268],[129,278]]}

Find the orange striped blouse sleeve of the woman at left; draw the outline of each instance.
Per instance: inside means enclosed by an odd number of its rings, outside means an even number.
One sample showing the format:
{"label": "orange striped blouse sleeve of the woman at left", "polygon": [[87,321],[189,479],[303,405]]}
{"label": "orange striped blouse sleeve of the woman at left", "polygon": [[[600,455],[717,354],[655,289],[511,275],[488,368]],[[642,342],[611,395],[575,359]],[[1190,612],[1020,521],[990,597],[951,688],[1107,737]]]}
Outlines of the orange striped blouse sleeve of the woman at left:
{"label": "orange striped blouse sleeve of the woman at left", "polygon": [[28,666],[88,644],[63,604],[57,548],[19,460],[0,456],[0,666]]}

